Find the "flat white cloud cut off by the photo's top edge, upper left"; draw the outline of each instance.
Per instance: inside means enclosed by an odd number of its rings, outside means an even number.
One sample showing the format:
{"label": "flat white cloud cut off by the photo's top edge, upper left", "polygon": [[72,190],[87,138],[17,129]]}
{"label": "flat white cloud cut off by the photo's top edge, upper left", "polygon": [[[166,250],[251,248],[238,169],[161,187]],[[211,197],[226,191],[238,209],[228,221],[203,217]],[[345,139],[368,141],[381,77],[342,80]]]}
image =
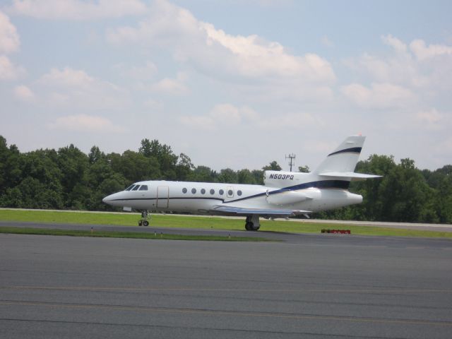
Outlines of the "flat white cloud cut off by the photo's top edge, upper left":
{"label": "flat white cloud cut off by the photo's top edge, upper left", "polygon": [[147,11],[140,0],[14,0],[8,9],[22,16],[53,20],[121,18]]}

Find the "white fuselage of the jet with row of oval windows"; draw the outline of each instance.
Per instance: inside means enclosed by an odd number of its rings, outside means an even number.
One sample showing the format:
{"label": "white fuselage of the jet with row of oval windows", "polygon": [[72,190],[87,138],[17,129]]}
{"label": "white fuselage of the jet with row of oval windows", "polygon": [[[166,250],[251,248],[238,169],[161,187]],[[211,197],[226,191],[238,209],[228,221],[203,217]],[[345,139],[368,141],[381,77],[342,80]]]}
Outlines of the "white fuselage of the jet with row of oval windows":
{"label": "white fuselage of the jet with row of oval windows", "polygon": [[[215,212],[215,206],[219,205],[262,210],[275,208],[300,210],[308,213],[339,208],[362,201],[362,196],[352,194],[345,189],[345,186],[348,187],[349,184],[347,181],[331,179],[311,181],[309,174],[304,175],[308,179],[304,181],[296,178],[297,175],[292,175],[292,177],[295,178],[285,180],[287,186],[283,188],[207,182],[137,182],[136,185],[146,186],[147,190],[121,191],[107,196],[104,201],[112,206],[136,210],[207,214],[222,214]],[[299,188],[297,186],[306,187]],[[326,186],[326,188],[321,189],[318,186]]]}

